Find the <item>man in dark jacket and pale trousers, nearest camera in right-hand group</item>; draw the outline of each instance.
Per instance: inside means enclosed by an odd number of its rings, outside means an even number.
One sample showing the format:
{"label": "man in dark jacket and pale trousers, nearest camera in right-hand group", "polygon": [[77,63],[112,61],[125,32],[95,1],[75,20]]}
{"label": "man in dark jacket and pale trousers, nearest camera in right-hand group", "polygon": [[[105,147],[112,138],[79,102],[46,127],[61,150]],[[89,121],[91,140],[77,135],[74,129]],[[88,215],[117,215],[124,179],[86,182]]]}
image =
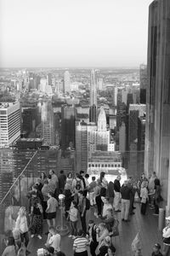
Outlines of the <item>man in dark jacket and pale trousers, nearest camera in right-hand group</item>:
{"label": "man in dark jacket and pale trousers, nearest camera in right-hand group", "polygon": [[122,188],[121,188],[121,195],[122,195],[122,221],[128,222],[128,213],[129,213],[129,207],[130,207],[130,194],[131,189],[128,187],[128,181],[125,180]]}

